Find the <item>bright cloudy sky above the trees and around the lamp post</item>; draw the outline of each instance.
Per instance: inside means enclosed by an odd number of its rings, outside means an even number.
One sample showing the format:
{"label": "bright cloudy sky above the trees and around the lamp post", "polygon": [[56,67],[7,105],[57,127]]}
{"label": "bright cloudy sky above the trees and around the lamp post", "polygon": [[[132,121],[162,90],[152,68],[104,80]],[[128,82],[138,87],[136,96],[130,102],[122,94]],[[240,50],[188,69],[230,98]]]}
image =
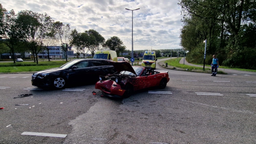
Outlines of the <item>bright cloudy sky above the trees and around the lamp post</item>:
{"label": "bright cloudy sky above the trees and around the lamp post", "polygon": [[7,10],[47,13],[78,32],[94,29],[106,40],[119,37],[134,50],[176,49],[179,46],[181,8],[177,0],[0,0]]}

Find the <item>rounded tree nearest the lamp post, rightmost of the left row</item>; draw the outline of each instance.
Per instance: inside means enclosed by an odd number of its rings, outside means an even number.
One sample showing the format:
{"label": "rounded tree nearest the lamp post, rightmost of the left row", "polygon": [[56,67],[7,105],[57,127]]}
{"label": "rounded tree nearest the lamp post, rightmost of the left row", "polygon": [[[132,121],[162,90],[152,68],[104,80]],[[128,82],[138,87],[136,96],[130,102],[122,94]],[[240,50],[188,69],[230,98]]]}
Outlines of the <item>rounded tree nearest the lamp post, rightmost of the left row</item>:
{"label": "rounded tree nearest the lamp post, rightmost of the left row", "polygon": [[117,36],[113,36],[113,37],[109,38],[104,43],[103,47],[105,47],[106,49],[116,51],[117,55],[119,55],[120,52],[122,52],[126,49],[126,46],[123,44],[123,42]]}

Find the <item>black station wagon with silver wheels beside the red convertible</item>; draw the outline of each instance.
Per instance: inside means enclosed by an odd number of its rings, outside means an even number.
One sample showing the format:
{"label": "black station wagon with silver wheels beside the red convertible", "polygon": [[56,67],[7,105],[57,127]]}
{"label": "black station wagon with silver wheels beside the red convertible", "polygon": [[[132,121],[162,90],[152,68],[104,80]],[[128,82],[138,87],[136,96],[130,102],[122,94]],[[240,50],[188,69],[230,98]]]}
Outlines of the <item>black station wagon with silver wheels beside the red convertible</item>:
{"label": "black station wagon with silver wheels beside the red convertible", "polygon": [[116,72],[112,60],[80,59],[70,61],[58,68],[33,73],[31,83],[37,87],[61,89],[66,85],[97,82],[100,75]]}

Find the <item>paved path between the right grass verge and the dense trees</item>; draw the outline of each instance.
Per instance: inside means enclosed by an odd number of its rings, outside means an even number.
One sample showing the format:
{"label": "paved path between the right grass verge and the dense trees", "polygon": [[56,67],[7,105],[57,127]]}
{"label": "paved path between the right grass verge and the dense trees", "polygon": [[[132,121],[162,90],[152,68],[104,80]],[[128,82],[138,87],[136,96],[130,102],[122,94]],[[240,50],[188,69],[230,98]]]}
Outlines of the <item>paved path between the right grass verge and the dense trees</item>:
{"label": "paved path between the right grass verge and the dense trees", "polygon": [[[184,58],[181,58],[181,60],[179,61],[180,64],[183,64],[184,63]],[[201,66],[201,65],[195,65],[195,64],[191,64],[191,63],[188,63],[185,59],[185,65],[190,65],[190,66],[196,66],[196,67],[204,67],[204,66]],[[210,68],[211,67],[208,67],[208,66],[205,66],[205,68]],[[256,76],[256,72],[251,72],[251,71],[241,71],[241,70],[233,70],[233,69],[223,69],[223,68],[218,68],[218,70],[221,70],[225,73],[228,73],[228,74],[252,74],[252,75],[255,75]]]}

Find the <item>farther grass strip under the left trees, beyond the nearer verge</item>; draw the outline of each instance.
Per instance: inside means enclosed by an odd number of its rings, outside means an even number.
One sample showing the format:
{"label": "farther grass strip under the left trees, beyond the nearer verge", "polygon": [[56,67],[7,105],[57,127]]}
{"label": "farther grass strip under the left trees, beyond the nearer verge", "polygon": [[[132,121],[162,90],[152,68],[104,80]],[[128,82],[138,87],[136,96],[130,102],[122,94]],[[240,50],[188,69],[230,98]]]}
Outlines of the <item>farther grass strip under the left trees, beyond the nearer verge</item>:
{"label": "farther grass strip under the left trees, beyond the nearer verge", "polygon": [[22,67],[22,66],[56,66],[59,67],[67,63],[66,61],[40,61],[38,64],[35,62],[4,62],[0,63],[0,67]]}

